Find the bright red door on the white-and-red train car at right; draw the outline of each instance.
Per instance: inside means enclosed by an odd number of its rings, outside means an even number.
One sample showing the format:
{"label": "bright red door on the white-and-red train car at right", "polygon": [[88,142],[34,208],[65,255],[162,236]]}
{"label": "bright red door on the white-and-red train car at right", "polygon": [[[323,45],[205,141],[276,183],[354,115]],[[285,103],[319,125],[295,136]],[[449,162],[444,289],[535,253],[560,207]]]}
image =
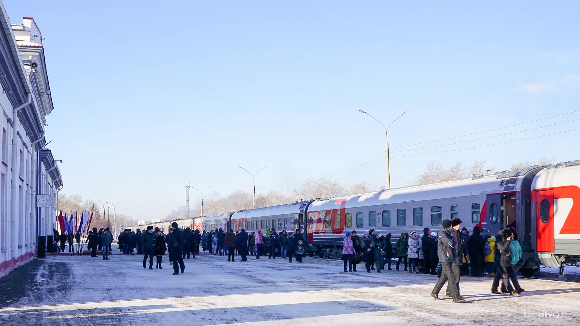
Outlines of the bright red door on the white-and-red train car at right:
{"label": "bright red door on the white-and-red train car at right", "polygon": [[554,252],[554,190],[536,191],[536,249]]}

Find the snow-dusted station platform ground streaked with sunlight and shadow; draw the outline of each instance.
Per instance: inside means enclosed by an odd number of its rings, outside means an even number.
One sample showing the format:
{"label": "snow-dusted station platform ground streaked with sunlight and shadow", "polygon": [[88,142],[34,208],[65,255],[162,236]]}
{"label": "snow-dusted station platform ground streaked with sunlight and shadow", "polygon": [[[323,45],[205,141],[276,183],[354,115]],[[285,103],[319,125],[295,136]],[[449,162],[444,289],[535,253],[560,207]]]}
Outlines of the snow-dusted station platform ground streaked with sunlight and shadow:
{"label": "snow-dusted station platform ground streaked with sunlight and shadow", "polygon": [[369,274],[364,265],[343,273],[340,261],[303,261],[198,255],[174,276],[166,256],[162,270],[143,269],[137,255],[49,256],[0,278],[0,325],[580,323],[577,282],[520,278],[526,291],[509,296],[490,294],[491,277],[462,277],[467,302],[452,303],[429,296],[436,276]]}

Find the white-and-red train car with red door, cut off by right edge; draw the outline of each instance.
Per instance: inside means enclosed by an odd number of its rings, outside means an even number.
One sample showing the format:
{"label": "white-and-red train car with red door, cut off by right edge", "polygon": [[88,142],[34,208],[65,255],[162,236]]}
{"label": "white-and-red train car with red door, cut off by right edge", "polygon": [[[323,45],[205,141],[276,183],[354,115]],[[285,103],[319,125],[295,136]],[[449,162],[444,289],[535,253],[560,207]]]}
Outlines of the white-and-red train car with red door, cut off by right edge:
{"label": "white-and-red train car with red door, cut off by right edge", "polygon": [[530,231],[537,259],[544,266],[580,262],[580,161],[550,165],[532,182]]}

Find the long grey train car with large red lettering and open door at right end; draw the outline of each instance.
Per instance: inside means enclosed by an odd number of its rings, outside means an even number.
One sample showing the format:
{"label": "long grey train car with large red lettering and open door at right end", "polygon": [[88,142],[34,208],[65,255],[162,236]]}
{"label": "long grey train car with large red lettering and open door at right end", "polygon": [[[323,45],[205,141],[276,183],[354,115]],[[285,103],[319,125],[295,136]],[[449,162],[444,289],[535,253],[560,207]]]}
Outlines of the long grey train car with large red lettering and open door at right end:
{"label": "long grey train car with large red lettering and open door at right end", "polygon": [[[524,234],[532,227],[531,183],[543,168],[532,166],[469,179],[316,200],[307,215],[311,249],[319,255],[325,251],[338,256],[346,231],[357,230],[362,234],[375,229],[391,233],[391,241],[396,241],[405,232],[415,231],[421,236],[425,227],[439,231],[442,220],[452,218],[461,218],[462,227],[470,232],[474,226],[487,234],[515,226],[519,234]],[[522,237],[524,258],[535,262],[529,233]],[[526,268],[536,265],[528,262]]]}

